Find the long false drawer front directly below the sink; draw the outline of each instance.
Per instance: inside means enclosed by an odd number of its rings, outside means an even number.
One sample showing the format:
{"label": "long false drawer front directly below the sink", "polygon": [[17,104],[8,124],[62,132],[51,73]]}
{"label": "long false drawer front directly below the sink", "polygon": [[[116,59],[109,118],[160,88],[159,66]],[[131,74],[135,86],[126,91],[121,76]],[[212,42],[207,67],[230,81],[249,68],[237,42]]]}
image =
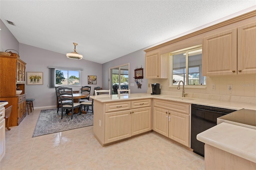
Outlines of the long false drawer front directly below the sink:
{"label": "long false drawer front directly below the sink", "polygon": [[154,107],[161,107],[172,111],[178,111],[180,113],[189,114],[189,106],[190,104],[187,103],[154,99]]}

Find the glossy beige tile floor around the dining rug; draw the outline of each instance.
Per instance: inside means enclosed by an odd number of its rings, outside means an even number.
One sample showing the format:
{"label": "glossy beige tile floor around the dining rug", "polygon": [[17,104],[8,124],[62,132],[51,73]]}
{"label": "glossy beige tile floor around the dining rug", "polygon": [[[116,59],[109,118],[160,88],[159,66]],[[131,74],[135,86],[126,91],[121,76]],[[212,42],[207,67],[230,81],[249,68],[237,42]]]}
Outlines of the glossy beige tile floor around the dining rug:
{"label": "glossy beige tile floor around the dining rug", "polygon": [[32,138],[39,113],[6,129],[0,170],[204,170],[203,157],[155,132],[105,147],[92,126]]}

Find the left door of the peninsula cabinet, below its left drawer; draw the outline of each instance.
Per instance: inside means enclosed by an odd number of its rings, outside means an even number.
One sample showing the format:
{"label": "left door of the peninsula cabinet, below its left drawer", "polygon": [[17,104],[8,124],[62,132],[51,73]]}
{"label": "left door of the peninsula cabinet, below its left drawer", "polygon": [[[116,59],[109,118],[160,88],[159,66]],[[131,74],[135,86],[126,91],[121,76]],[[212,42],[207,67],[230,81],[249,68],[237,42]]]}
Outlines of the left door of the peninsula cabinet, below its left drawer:
{"label": "left door of the peninsula cabinet, below its left drawer", "polygon": [[105,114],[105,143],[131,136],[131,111],[117,111]]}

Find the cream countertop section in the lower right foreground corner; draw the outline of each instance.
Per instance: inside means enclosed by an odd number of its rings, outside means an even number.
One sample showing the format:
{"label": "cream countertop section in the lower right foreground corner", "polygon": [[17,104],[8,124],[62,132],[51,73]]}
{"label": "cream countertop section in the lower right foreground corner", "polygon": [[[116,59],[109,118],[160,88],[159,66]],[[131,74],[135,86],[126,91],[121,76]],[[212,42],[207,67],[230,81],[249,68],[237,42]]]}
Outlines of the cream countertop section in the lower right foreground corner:
{"label": "cream countertop section in the lower right foreground corner", "polygon": [[256,163],[256,129],[220,123],[199,133],[196,139]]}

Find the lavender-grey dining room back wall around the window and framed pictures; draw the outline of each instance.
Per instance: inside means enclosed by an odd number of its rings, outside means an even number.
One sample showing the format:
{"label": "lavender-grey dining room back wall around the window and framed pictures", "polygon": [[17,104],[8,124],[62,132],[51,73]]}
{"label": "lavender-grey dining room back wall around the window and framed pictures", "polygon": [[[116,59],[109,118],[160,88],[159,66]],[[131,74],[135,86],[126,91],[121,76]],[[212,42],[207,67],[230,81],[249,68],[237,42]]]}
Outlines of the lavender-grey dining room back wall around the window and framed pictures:
{"label": "lavender-grey dining room back wall around the window and framed pictures", "polygon": [[[81,85],[88,85],[87,76],[96,75],[97,84],[91,85],[92,89],[102,86],[102,64],[94,63],[84,59],[69,59],[65,54],[48,51],[46,49],[33,47],[20,43],[20,59],[26,62],[26,72],[43,72],[43,85],[25,85],[27,98],[34,98],[34,107],[44,107],[56,105],[55,88],[49,88],[48,66],[77,67],[83,68],[81,71]],[[80,90],[81,86],[73,87]],[[93,92],[92,92],[93,93]]]}

